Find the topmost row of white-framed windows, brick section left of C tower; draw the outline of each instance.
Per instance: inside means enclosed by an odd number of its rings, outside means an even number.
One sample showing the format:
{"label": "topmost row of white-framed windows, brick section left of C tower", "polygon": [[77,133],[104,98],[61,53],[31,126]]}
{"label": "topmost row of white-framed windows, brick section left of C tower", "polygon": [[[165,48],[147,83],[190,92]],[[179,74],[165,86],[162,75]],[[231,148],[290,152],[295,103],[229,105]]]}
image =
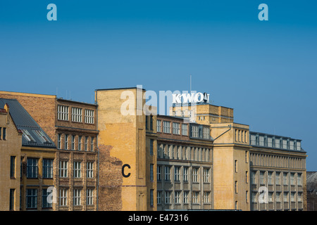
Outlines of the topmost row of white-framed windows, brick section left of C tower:
{"label": "topmost row of white-framed windows, brick section left of C tower", "polygon": [[[69,106],[58,105],[57,118],[58,120],[69,120]],[[82,122],[82,108],[72,107],[71,120],[72,122]],[[94,110],[85,109],[85,123],[94,124]]]}

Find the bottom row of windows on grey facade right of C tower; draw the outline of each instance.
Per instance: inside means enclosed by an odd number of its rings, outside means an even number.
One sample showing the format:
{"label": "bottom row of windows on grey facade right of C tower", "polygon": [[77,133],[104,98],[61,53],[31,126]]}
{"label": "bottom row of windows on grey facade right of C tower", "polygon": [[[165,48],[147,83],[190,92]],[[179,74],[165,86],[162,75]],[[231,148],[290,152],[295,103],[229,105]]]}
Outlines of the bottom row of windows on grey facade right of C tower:
{"label": "bottom row of windows on grey facade right of C tower", "polygon": [[[174,195],[172,196],[172,194]],[[174,200],[174,204],[189,204],[189,193],[192,193],[192,204],[199,204],[200,202],[200,191],[157,191],[157,204],[172,204],[171,200]],[[164,195],[163,195],[164,194]],[[211,192],[204,191],[203,201],[204,203],[211,203]],[[162,201],[163,200],[163,201]]]}

